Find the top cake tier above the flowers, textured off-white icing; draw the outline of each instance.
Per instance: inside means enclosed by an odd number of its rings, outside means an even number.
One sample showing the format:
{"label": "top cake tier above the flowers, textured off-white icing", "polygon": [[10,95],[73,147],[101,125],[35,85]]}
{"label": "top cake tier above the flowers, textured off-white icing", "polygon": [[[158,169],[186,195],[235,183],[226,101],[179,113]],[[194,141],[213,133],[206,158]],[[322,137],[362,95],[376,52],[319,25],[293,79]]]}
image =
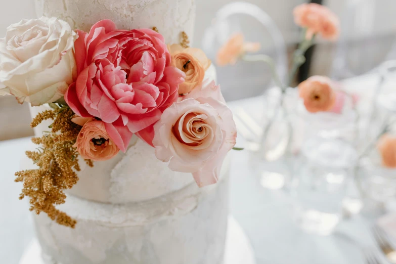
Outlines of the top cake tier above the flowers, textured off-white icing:
{"label": "top cake tier above the flowers, textured off-white icing", "polygon": [[72,28],[89,31],[102,19],[119,29],[157,27],[168,43],[185,31],[193,38],[195,0],[35,0],[38,16],[57,17]]}

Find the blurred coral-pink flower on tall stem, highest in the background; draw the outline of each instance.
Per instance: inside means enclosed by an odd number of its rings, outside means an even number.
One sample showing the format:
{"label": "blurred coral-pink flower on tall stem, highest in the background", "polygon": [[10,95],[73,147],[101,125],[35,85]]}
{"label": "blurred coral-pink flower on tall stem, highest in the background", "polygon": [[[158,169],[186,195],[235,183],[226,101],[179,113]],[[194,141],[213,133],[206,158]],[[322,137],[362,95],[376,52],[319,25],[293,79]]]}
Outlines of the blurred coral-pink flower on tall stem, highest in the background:
{"label": "blurred coral-pink flower on tall stem, highest in the background", "polygon": [[315,3],[302,4],[294,8],[293,14],[294,22],[307,29],[307,39],[311,39],[314,34],[329,40],[338,38],[338,17],[327,7]]}

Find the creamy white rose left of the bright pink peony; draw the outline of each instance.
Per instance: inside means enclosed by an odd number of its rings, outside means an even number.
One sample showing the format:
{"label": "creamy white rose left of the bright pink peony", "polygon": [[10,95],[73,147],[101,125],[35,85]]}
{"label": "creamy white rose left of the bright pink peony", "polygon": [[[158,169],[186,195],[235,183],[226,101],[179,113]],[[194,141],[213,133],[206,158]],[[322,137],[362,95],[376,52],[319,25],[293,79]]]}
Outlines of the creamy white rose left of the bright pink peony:
{"label": "creamy white rose left of the bright pink peony", "polygon": [[0,38],[0,95],[14,95],[33,106],[63,97],[76,75],[76,33],[65,21],[23,19]]}

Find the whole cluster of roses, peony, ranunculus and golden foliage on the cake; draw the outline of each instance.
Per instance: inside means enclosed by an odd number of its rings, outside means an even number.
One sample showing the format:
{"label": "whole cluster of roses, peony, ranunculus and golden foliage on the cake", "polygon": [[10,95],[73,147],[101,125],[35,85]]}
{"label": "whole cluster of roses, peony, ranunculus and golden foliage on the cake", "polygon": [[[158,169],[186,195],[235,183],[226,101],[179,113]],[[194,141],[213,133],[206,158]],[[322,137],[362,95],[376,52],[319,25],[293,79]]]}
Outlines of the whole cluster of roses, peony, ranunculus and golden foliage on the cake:
{"label": "whole cluster of roses, peony, ranunculus and golden foliage on the cake", "polygon": [[8,27],[0,39],[0,94],[32,106],[48,104],[32,121],[49,131],[26,155],[37,166],[16,172],[20,198],[57,223],[76,222],[56,206],[78,181],[79,158],[95,161],[125,152],[133,134],[155,148],[171,170],[192,173],[197,185],[218,181],[236,126],[220,87],[204,81],[210,60],[181,43],[167,45],[153,29],[117,29],[102,20],[90,32],[41,17]]}

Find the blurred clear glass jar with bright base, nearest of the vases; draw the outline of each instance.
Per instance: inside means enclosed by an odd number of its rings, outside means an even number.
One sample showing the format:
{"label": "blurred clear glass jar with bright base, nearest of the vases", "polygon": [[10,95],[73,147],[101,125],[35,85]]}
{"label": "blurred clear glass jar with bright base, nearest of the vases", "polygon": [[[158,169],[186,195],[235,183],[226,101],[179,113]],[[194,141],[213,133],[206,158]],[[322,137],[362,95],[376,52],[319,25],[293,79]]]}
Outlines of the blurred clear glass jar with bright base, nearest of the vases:
{"label": "blurred clear glass jar with bright base, nearest of the vases", "polygon": [[291,185],[294,218],[303,230],[330,234],[342,218],[342,201],[357,152],[349,143],[320,137],[305,141]]}

